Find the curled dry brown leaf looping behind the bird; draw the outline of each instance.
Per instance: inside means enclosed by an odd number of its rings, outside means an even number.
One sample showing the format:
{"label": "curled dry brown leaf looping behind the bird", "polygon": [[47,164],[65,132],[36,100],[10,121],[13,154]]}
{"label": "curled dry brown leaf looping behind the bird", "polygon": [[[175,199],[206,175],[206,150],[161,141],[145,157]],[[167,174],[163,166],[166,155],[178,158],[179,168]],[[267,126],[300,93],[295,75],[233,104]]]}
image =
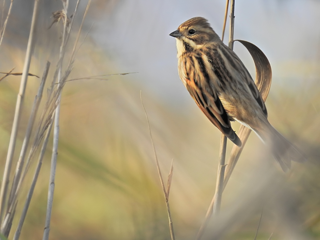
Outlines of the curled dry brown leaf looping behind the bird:
{"label": "curled dry brown leaf looping behind the bird", "polygon": [[[252,59],[254,61],[254,65],[256,67],[255,84],[257,85],[260,91],[263,101],[266,101],[269,90],[270,90],[271,79],[272,79],[271,65],[269,63],[268,58],[256,45],[244,40],[235,40],[235,41],[242,43],[251,54]],[[240,157],[242,149],[244,148],[244,145],[249,138],[250,132],[251,130],[249,128],[243,125],[240,126],[238,137],[242,142],[242,146],[241,148],[239,148],[238,146],[234,145],[231,150],[231,154],[228,160],[228,165],[227,165],[227,169],[224,177],[223,188],[225,188],[228,183],[231,173]]]}

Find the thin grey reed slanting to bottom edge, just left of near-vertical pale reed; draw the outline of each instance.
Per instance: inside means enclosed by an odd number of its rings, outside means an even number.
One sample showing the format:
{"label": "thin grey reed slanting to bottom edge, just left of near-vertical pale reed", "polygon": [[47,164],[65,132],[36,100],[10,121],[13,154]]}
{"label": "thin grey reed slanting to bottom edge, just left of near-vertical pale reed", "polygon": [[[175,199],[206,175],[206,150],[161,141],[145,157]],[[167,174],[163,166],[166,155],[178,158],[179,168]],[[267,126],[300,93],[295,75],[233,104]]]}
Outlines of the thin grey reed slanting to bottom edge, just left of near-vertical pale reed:
{"label": "thin grey reed slanting to bottom edge, just left of near-vertical pale reed", "polygon": [[41,148],[40,155],[39,155],[39,160],[38,160],[38,165],[37,165],[37,168],[36,168],[36,171],[35,171],[35,174],[34,174],[34,177],[33,177],[29,192],[28,192],[28,196],[27,196],[26,202],[24,204],[24,207],[23,207],[23,210],[22,210],[22,213],[21,213],[21,217],[20,217],[20,220],[19,220],[19,223],[18,223],[17,230],[14,233],[13,240],[18,240],[19,237],[20,237],[21,228],[22,228],[23,222],[24,222],[24,220],[26,218],[26,215],[27,215],[27,211],[28,211],[28,208],[29,208],[29,205],[30,205],[30,201],[31,201],[32,195],[33,195],[33,191],[34,191],[34,189],[36,187],[36,182],[38,180],[39,172],[40,172],[40,169],[41,169],[41,166],[42,166],[42,160],[43,160],[43,157],[44,157],[44,153],[45,153],[45,150],[46,150],[47,145],[48,145],[49,136],[50,136],[52,125],[53,125],[52,123],[53,123],[53,119],[51,120],[51,123],[50,123],[50,125],[49,125],[49,127],[47,129],[47,133],[45,135],[44,142],[42,144],[42,148]]}

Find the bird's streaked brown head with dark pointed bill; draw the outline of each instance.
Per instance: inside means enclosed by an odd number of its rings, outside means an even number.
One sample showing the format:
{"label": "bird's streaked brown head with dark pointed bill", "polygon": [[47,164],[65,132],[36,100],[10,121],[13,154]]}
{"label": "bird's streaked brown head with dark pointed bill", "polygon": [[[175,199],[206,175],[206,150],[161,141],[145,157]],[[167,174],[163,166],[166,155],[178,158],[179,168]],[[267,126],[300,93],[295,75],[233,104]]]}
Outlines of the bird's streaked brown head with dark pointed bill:
{"label": "bird's streaked brown head with dark pointed bill", "polygon": [[195,17],[185,21],[176,31],[169,35],[177,39],[178,54],[179,47],[184,48],[183,52],[189,52],[208,42],[220,40],[208,20],[202,17]]}

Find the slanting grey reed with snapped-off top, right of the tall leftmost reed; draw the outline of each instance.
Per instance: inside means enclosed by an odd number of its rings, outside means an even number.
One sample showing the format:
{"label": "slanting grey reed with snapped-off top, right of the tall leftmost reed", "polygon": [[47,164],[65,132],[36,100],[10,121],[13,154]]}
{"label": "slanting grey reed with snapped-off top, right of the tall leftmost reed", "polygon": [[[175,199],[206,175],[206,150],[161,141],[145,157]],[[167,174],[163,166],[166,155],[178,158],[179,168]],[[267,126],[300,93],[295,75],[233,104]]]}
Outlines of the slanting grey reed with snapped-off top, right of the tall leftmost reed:
{"label": "slanting grey reed with snapped-off top, right of the tall leftmost reed", "polygon": [[[22,172],[24,159],[26,156],[27,148],[28,148],[28,142],[29,142],[29,139],[31,136],[31,131],[32,131],[32,127],[34,124],[36,114],[37,114],[37,110],[38,110],[38,107],[40,105],[40,101],[42,98],[42,92],[44,89],[44,84],[45,84],[46,78],[48,76],[49,67],[50,67],[50,62],[47,62],[46,66],[44,68],[44,73],[43,73],[43,77],[42,77],[42,80],[41,80],[41,83],[40,83],[40,86],[38,89],[38,93],[35,97],[35,101],[34,101],[34,104],[33,104],[32,110],[31,110],[31,114],[30,114],[30,118],[29,118],[29,122],[28,122],[28,127],[27,127],[27,131],[26,131],[26,136],[23,140],[19,161],[17,163],[16,173],[14,175],[14,179],[12,182],[12,188],[11,188],[11,192],[10,192],[10,196],[9,196],[9,200],[8,200],[7,211],[5,214],[5,218],[1,224],[1,232],[3,232],[3,233],[6,232],[8,229],[9,220],[12,218],[11,215],[13,212],[13,207],[16,204],[18,191],[19,191],[18,186],[21,185],[21,181],[20,181],[21,180],[21,172]],[[27,168],[27,166],[26,166],[26,168]]]}

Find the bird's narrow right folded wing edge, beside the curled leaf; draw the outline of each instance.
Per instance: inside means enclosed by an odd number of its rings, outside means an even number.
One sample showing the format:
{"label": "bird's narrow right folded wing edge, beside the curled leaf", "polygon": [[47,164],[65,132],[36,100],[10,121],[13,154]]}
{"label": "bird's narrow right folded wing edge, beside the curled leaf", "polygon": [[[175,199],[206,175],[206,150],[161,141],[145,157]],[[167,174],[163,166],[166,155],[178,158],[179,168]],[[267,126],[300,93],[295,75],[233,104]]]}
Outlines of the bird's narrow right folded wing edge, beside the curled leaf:
{"label": "bird's narrow right folded wing edge, beside the curled leaf", "polygon": [[266,117],[268,117],[268,112],[264,101],[260,95],[260,92],[254,83],[250,73],[247,68],[244,66],[243,62],[239,59],[235,52],[233,52],[230,48],[228,48],[225,44],[221,44],[219,46],[219,50],[223,54],[224,58],[228,61],[230,67],[234,68],[235,72],[241,75],[241,78],[248,85],[253,97],[258,102],[260,108]]}

